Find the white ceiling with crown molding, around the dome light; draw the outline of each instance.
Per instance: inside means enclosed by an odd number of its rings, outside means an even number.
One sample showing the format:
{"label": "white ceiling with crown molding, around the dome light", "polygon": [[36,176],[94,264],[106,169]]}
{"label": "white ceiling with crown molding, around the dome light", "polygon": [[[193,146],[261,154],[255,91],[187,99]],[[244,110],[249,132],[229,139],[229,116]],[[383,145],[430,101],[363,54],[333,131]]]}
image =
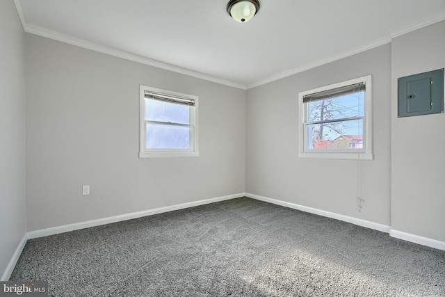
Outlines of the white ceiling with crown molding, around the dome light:
{"label": "white ceiling with crown molding, around the dome light", "polygon": [[[15,0],[24,30],[129,60],[250,88],[385,44],[445,19],[445,0]],[[445,36],[445,32],[444,32]]]}

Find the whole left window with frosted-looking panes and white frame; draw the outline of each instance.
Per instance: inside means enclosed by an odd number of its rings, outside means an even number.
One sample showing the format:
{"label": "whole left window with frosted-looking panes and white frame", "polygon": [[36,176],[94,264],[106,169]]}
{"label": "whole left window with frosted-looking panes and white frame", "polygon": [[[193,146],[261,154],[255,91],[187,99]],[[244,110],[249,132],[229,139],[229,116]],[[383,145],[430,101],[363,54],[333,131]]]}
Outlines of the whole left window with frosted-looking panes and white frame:
{"label": "whole left window with frosted-looking panes and white frame", "polygon": [[198,156],[198,97],[140,86],[140,158]]}

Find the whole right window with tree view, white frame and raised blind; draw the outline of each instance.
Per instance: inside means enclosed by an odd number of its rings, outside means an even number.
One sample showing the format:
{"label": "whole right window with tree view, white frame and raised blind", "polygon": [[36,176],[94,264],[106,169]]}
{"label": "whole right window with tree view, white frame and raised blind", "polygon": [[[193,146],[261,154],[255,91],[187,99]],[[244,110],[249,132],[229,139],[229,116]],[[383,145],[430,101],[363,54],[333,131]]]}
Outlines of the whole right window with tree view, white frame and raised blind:
{"label": "whole right window with tree view, white frame and raised blind", "polygon": [[298,156],[373,159],[371,100],[371,75],[298,93]]}

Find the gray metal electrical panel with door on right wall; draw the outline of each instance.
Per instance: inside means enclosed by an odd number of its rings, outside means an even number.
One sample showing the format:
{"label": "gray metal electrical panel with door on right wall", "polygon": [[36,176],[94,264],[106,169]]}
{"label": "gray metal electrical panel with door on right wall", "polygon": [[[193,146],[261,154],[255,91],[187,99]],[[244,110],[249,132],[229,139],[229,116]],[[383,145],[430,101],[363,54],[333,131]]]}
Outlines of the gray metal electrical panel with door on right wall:
{"label": "gray metal electrical panel with door on right wall", "polygon": [[398,117],[444,112],[444,69],[398,79]]}

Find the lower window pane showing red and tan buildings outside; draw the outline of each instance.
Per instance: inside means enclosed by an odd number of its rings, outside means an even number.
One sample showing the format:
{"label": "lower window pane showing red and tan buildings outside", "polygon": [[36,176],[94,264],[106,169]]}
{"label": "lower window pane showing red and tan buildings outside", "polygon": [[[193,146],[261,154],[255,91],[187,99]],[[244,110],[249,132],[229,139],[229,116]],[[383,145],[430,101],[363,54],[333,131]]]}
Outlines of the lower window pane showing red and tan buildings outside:
{"label": "lower window pane showing red and tan buildings outside", "polygon": [[306,125],[307,149],[362,149],[363,120]]}

